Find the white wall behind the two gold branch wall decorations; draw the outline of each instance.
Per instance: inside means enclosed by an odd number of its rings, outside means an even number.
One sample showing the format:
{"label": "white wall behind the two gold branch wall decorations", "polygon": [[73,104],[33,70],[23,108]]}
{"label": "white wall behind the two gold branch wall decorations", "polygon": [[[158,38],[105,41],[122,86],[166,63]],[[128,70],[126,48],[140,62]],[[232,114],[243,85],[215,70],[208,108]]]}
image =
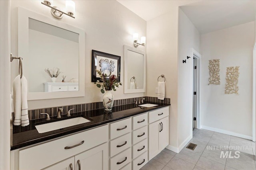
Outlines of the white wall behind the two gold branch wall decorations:
{"label": "white wall behind the two gold branch wall decorations", "polygon": [[[252,136],[254,21],[201,36],[202,128]],[[209,85],[208,61],[220,59],[220,85]],[[224,94],[226,67],[240,66],[238,93]]]}

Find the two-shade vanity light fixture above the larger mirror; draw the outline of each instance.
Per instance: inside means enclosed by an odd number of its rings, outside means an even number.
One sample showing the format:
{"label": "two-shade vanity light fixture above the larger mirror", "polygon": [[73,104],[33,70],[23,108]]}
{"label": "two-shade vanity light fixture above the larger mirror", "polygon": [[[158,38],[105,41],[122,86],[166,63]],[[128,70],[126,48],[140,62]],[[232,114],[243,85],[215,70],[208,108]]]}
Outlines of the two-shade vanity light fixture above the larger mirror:
{"label": "two-shade vanity light fixture above the larger mirror", "polygon": [[66,12],[63,12],[58,6],[53,6],[52,0],[44,0],[41,2],[41,4],[51,8],[51,14],[54,16],[54,18],[61,19],[63,17],[62,14],[75,18],[75,2],[72,0],[66,0]]}

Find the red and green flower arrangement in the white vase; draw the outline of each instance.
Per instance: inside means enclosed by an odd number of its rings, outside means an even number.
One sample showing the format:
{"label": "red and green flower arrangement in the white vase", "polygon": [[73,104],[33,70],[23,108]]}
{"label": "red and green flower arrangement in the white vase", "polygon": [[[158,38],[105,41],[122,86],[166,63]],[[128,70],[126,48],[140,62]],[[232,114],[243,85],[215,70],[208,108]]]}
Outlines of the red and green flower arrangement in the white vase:
{"label": "red and green flower arrangement in the white vase", "polygon": [[122,86],[121,82],[118,82],[117,76],[114,74],[109,75],[102,73],[100,70],[96,69],[96,72],[100,75],[103,84],[100,84],[100,81],[94,82],[98,88],[102,88],[100,92],[105,93],[105,90],[114,90],[116,91],[116,87]]}

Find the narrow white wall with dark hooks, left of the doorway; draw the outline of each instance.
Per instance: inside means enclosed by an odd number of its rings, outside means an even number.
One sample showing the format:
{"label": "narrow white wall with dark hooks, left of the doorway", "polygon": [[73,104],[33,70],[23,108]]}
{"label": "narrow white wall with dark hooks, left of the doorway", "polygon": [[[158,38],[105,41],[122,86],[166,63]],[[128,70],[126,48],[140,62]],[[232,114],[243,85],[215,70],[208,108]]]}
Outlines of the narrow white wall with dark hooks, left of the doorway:
{"label": "narrow white wall with dark hooks, left of the doorway", "polygon": [[[193,125],[193,56],[191,48],[200,52],[200,33],[179,8],[178,23],[178,147],[192,137]],[[191,57],[187,59],[187,56]],[[182,61],[186,59],[186,63]]]}

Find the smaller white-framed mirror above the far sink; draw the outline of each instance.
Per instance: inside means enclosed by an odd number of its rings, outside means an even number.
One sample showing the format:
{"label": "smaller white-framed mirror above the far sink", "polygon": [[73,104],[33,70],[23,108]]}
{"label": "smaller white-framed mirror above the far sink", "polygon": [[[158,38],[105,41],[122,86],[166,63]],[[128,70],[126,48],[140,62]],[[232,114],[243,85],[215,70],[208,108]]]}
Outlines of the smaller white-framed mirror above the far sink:
{"label": "smaller white-framed mirror above the far sink", "polygon": [[124,45],[124,93],[146,92],[146,54]]}

